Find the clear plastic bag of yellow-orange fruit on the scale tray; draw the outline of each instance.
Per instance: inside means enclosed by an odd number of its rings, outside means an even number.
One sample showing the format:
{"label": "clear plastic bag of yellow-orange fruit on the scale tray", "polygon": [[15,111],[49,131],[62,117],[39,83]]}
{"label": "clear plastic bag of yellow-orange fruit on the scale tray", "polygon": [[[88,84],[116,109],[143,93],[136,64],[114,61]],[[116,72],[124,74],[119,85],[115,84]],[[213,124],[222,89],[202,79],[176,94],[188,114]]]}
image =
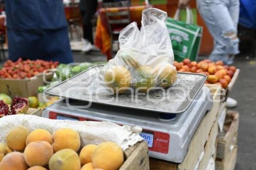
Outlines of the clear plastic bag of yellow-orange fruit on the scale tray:
{"label": "clear plastic bag of yellow-orange fruit on the scale tray", "polygon": [[177,71],[166,19],[164,11],[145,9],[141,30],[133,22],[120,32],[120,50],[95,81],[107,91],[119,94],[170,87],[176,81]]}

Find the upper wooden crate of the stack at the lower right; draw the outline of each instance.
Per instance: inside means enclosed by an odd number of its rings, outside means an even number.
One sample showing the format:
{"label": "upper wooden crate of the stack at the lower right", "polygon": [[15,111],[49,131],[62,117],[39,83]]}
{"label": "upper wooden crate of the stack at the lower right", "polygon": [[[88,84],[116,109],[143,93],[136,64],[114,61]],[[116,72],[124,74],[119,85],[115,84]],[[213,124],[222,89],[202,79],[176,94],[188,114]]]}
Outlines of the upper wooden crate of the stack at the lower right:
{"label": "upper wooden crate of the stack at the lower right", "polygon": [[234,146],[237,145],[239,125],[239,113],[227,111],[223,132],[218,135],[217,159],[227,159],[231,154]]}

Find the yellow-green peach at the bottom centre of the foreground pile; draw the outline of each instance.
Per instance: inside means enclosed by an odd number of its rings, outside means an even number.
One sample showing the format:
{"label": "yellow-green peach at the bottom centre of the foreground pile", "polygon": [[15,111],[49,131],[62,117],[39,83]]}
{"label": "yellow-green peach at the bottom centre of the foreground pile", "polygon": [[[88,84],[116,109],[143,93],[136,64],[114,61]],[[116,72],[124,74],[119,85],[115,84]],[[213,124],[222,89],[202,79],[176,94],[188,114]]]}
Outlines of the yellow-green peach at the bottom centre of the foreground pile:
{"label": "yellow-green peach at the bottom centre of the foreground pile", "polygon": [[53,154],[49,161],[50,170],[80,170],[79,156],[72,149],[63,149]]}

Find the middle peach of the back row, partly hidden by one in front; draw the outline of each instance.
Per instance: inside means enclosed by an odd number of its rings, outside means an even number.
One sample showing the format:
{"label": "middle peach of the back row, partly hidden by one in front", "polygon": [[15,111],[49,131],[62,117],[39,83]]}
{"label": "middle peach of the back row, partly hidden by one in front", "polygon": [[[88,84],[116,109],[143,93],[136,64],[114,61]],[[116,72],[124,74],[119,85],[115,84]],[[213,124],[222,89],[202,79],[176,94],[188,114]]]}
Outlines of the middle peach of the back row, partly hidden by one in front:
{"label": "middle peach of the back row, partly hidden by one in front", "polygon": [[45,129],[33,130],[27,137],[26,145],[28,145],[30,142],[36,141],[46,141],[49,144],[52,144],[52,135]]}

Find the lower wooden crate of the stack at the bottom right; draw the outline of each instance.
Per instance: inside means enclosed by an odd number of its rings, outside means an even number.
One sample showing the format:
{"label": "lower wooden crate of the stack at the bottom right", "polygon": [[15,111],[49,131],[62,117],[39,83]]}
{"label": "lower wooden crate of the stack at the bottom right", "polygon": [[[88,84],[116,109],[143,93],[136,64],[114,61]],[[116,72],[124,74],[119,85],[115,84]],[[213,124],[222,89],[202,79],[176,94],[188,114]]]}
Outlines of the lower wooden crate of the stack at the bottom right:
{"label": "lower wooden crate of the stack at the bottom right", "polygon": [[236,158],[237,158],[237,146],[234,147],[233,151],[230,154],[228,159],[222,161],[215,161],[216,170],[234,170],[236,167]]}

